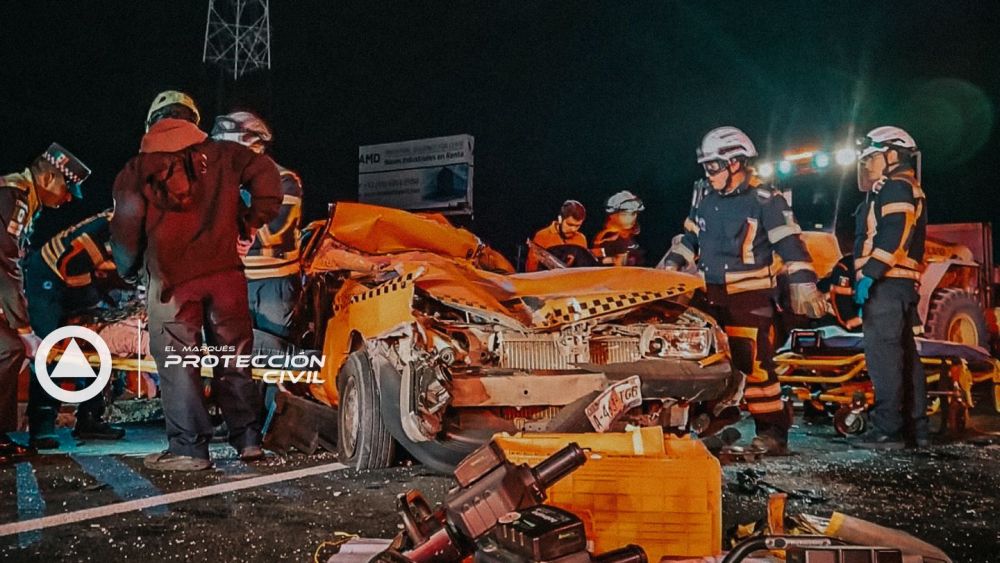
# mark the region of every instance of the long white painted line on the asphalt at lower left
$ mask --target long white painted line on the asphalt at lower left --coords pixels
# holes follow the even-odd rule
[[[208,487],[178,491],[176,493],[168,493],[155,497],[108,504],[105,506],[98,506],[96,508],[86,508],[74,512],[67,512],[65,514],[55,514],[53,516],[45,516],[44,518],[25,520],[23,522],[11,522],[10,524],[0,525],[0,537],[30,532],[32,530],[44,530],[45,528],[62,526],[65,524],[74,524],[77,522],[84,522],[86,520],[93,520],[95,518],[104,518],[105,516],[111,516],[113,514],[143,510],[153,506],[162,506],[164,504],[184,502],[196,498],[219,495],[243,489],[252,489],[262,485],[281,483],[292,479],[301,479],[302,477],[312,477],[314,475],[322,475],[323,473],[330,473],[332,471],[340,471],[341,469],[347,469],[347,466],[342,463],[327,463],[325,465],[317,465],[315,467],[307,467],[305,469],[296,469],[295,471],[286,471],[284,473],[275,473],[272,475],[261,475],[260,477],[253,477],[240,481],[220,483],[218,485],[210,485]]]

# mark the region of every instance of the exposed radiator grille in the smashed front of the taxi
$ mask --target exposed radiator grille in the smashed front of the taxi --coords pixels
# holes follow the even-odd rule
[[[639,359],[639,339],[627,337],[592,340],[589,355],[567,355],[554,340],[544,337],[507,337],[500,350],[500,367],[523,370],[568,370],[578,363],[612,364]]]

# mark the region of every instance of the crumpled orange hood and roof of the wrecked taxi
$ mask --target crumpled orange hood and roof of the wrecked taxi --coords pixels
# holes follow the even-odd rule
[[[510,274],[502,256],[441,216],[340,203],[309,270],[360,274],[395,271],[390,284],[412,283],[448,306],[520,330],[546,330],[687,295],[698,276],[649,268],[572,268]],[[484,258],[486,263],[484,264]],[[506,267],[497,267],[497,266]],[[504,273],[497,273],[504,272]],[[336,298],[346,306],[370,295],[348,284]]]

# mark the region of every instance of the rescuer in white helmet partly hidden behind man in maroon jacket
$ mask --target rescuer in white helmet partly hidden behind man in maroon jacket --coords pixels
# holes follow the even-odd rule
[[[233,141],[263,154],[273,138],[260,117],[237,111],[215,118],[212,138]],[[281,176],[281,209],[278,216],[240,242],[244,272],[250,291],[254,328],[282,339],[289,337],[292,310],[302,291],[299,271],[302,180],[278,166]]]

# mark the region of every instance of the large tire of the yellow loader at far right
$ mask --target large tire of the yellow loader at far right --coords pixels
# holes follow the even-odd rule
[[[986,315],[979,301],[961,289],[939,289],[931,296],[925,323],[928,338],[988,346]]]

